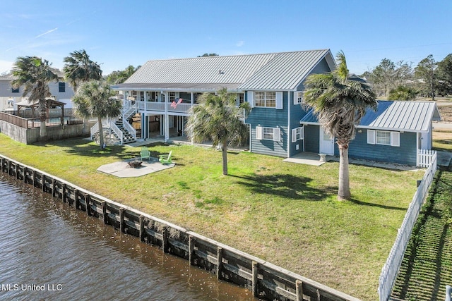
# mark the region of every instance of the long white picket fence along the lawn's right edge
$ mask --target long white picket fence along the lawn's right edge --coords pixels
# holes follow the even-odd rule
[[[427,192],[432,184],[434,174],[436,172],[436,152],[432,154],[431,163],[427,171],[424,173],[424,178],[420,185],[417,187],[414,197],[408,207],[408,211],[403,219],[402,226],[398,229],[398,235],[396,242],[394,242],[393,248],[389,253],[388,259],[386,259],[386,264],[381,269],[381,274],[379,278],[379,296],[380,301],[388,301],[391,295],[394,282],[396,281],[398,269],[400,264],[402,264],[403,254],[408,245],[408,240],[410,240],[410,235],[417,216],[420,213],[422,204],[427,197]]]

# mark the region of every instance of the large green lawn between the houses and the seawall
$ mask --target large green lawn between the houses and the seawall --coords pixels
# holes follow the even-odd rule
[[[338,202],[338,163],[291,164],[282,158],[191,145],[173,151],[174,168],[140,178],[96,169],[138,156],[140,148],[99,147],[73,139],[23,145],[0,133],[0,154],[85,189],[331,286],[377,300],[381,267],[424,171],[350,166],[351,201]]]

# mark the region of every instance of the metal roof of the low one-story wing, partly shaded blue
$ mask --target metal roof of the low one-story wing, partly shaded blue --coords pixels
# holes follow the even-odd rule
[[[373,130],[399,130],[428,132],[432,121],[441,120],[434,102],[405,102],[379,100],[376,111],[367,109],[357,128]],[[319,124],[314,110],[300,121],[302,124]]]

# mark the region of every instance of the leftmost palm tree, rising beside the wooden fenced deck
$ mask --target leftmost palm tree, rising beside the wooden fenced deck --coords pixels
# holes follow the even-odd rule
[[[46,98],[52,96],[49,82],[58,80],[58,75],[52,71],[50,65],[49,61],[43,61],[37,56],[19,56],[12,70],[15,79],[11,85],[16,89],[23,85],[23,97],[28,96],[28,102],[39,102],[40,139],[47,137]]]

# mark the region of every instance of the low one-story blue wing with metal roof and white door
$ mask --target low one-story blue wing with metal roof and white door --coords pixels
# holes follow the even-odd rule
[[[432,121],[441,119],[434,102],[378,101],[368,109],[348,149],[351,159],[419,166],[418,150],[432,149]],[[314,111],[299,121],[305,152],[339,155],[334,138],[321,128]]]

